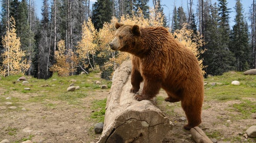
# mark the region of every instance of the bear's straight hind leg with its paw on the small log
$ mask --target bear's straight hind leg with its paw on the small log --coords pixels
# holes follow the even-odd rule
[[[184,99],[181,106],[185,111],[188,124],[184,126],[185,130],[190,130],[201,124],[202,101],[193,99]]]

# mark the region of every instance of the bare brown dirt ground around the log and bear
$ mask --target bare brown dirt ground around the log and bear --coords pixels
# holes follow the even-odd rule
[[[20,95],[13,91],[5,94],[4,98],[18,98],[19,101],[16,105],[18,109],[15,110],[9,109],[8,105],[0,104],[0,141],[9,139],[11,142],[22,142],[23,139],[31,139],[33,142],[96,142],[99,134],[94,134],[93,127],[96,122],[90,120],[90,114],[93,112],[90,107],[93,100],[105,99],[109,89],[97,92],[81,99],[83,108],[69,105],[63,101],[45,100],[39,104],[24,103],[23,101],[26,99],[37,96],[31,93]],[[1,87],[0,93],[2,96],[3,89]],[[158,96],[165,98],[166,94],[161,91]],[[254,98],[248,100],[256,102]],[[252,114],[252,117],[247,120],[236,121],[232,120],[229,111],[223,110],[231,104],[239,102],[240,100],[205,102],[202,113],[203,122],[200,128],[206,134],[216,132],[221,134],[217,137],[218,141],[223,141],[226,138],[238,138],[239,142],[248,142],[245,141],[246,138],[243,135],[239,135],[239,132],[244,134],[248,125],[255,124],[256,115]],[[170,103],[164,101],[158,101],[158,103],[163,112],[168,112],[165,107]],[[190,132],[182,129],[186,121],[180,120],[180,117],[185,117],[185,114],[180,108],[180,103],[175,104],[177,108],[174,108],[172,116],[169,116],[174,127],[163,142],[195,142]],[[253,142],[253,140],[249,140],[249,142]]]

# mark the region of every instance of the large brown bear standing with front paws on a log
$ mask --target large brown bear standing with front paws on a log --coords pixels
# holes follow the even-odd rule
[[[201,123],[204,100],[203,75],[193,52],[178,42],[164,27],[141,28],[115,23],[112,50],[131,53],[132,89],[136,93],[144,81],[138,101],[149,100],[163,88],[167,102],[179,102],[185,111],[190,130]]]

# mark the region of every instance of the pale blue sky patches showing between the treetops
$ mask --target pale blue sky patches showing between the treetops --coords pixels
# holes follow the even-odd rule
[[[94,4],[97,0],[90,0],[91,5]],[[179,6],[182,6],[185,10],[185,12],[187,13],[187,3],[188,0],[161,0],[161,5],[163,5],[163,9],[164,9],[164,14],[165,16],[168,18],[168,15],[170,15],[170,17],[172,17],[173,14],[173,9],[174,9],[174,4],[176,5],[176,7],[178,8]],[[249,12],[250,12],[250,7],[252,4],[253,0],[241,0],[241,3],[243,5],[244,8],[244,16],[248,19],[249,16]],[[36,7],[36,13],[37,16],[40,18],[41,17],[41,7],[42,7],[42,1],[40,0],[34,0],[35,2],[35,7]],[[211,0],[211,3],[214,4],[215,2],[217,2],[217,0]],[[227,0],[227,7],[231,9],[231,12],[229,13],[229,24],[230,26],[234,25],[234,17],[236,16],[235,10],[234,10],[234,6],[236,5],[236,0]],[[198,0],[194,0],[193,1],[193,9],[194,12],[196,13],[196,8],[197,8],[197,4],[198,4]],[[153,7],[153,3],[152,0],[150,0],[150,7]],[[92,6],[90,6],[92,8]],[[248,22],[248,24],[250,25],[250,22]]]

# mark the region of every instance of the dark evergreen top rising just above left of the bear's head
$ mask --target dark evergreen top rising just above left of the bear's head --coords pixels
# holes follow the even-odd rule
[[[98,0],[93,4],[92,22],[95,29],[103,27],[104,22],[110,22],[112,12],[112,3],[110,0]]]

